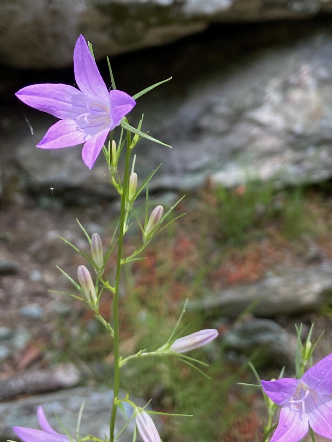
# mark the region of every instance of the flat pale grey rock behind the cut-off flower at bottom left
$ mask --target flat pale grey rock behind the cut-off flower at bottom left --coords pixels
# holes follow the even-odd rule
[[[125,395],[123,394],[122,397]],[[145,401],[131,398],[139,406],[146,405]],[[76,438],[76,425],[80,407],[84,403],[84,411],[80,425],[80,434],[92,434],[104,440],[105,434],[109,435],[110,409],[113,392],[103,388],[80,387],[64,390],[57,393],[32,396],[14,402],[0,404],[0,441],[15,440],[17,436],[12,431],[13,426],[39,428],[37,421],[37,408],[42,405],[50,424],[55,430],[63,434],[59,421]],[[123,404],[127,416],[132,416],[132,407]],[[148,408],[149,409],[149,408]],[[160,429],[160,419],[153,416],[153,420]],[[126,424],[121,412],[117,414],[116,432]],[[119,442],[131,442],[134,431],[134,421],[117,438]]]

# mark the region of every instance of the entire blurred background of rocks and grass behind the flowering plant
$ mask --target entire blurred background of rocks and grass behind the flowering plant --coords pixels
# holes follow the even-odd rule
[[[332,1],[3,0],[0,3],[0,440],[12,425],[37,427],[42,404],[82,432],[107,431],[112,345],[72,291],[84,233],[105,249],[119,204],[100,158],[89,171],[80,147],[36,149],[56,119],[14,93],[37,83],[75,85],[73,48],[93,44],[108,87],[139,98],[129,114],[173,146],[142,140],[136,172],[151,208],[186,212],[125,268],[121,351],[153,350],[169,336],[185,299],[185,333],[218,328],[191,356],[206,379],[174,358],[128,363],[122,387],[154,410],[193,414],[159,419],[163,440],[246,442],[265,417],[248,367],[264,379],[294,376],[296,333],[325,336],[332,351]],[[142,201],[137,203],[144,216]],[[136,225],[126,252],[140,244]],[[108,271],[112,277],[112,256]],[[53,291],[49,291],[53,290]],[[109,317],[105,295],[101,309]],[[53,420],[52,420],[53,419]],[[120,424],[119,424],[120,425]],[[59,427],[58,427],[59,428]],[[119,428],[120,429],[120,428]],[[130,428],[119,440],[131,440]]]

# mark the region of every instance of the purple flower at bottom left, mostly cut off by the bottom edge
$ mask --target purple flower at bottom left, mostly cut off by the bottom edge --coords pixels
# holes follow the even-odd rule
[[[13,427],[13,431],[23,442],[69,442],[70,439],[68,436],[64,436],[53,430],[40,406],[38,407],[37,416],[39,425],[42,428],[41,430],[21,426]]]

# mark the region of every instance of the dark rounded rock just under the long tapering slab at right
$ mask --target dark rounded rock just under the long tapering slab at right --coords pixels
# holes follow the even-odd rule
[[[227,332],[226,349],[254,357],[257,363],[294,369],[296,337],[271,319],[251,318]]]

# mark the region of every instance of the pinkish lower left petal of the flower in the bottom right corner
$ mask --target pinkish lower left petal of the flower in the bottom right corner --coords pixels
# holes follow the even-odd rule
[[[298,442],[309,430],[307,416],[294,412],[290,407],[280,410],[279,424],[270,442]]]

